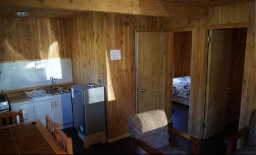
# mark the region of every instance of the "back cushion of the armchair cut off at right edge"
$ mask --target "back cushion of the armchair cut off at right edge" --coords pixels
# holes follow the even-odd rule
[[[256,110],[254,109],[251,114],[251,118],[250,118],[250,122],[249,122],[249,126],[248,126],[249,134],[247,137],[247,144],[246,144],[248,146],[253,146],[253,147],[256,147],[256,143],[255,143],[255,138],[256,138],[256,135],[255,135],[255,125],[256,125],[255,112],[256,112]]]

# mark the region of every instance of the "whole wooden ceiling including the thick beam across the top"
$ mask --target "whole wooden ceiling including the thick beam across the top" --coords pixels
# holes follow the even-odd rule
[[[201,7],[251,1],[253,0],[8,0],[0,1],[0,17],[14,17],[15,11],[27,11],[30,12],[29,17],[69,18],[87,11],[96,11],[200,19]]]

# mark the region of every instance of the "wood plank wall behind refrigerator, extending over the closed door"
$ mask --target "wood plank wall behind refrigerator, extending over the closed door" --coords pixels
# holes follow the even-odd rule
[[[135,114],[135,28],[172,28],[173,22],[182,27],[194,24],[186,19],[113,13],[87,13],[69,20],[74,83],[105,80],[109,139],[127,134],[127,117]],[[121,49],[121,60],[110,60],[110,49]]]

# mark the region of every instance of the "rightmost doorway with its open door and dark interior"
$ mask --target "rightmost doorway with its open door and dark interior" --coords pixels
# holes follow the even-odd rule
[[[209,31],[204,139],[230,124],[238,130],[246,35],[246,28]]]

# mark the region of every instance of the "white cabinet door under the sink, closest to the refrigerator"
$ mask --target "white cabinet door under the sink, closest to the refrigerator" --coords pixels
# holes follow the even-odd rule
[[[55,121],[59,125],[73,122],[71,97],[61,97],[54,99]]]

